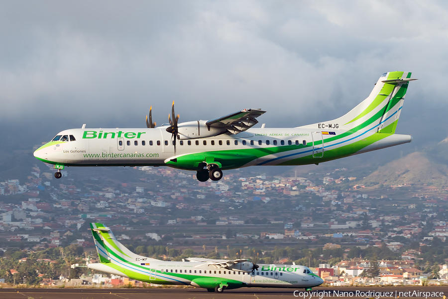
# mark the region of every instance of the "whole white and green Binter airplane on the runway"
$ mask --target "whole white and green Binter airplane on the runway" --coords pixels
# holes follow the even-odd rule
[[[257,265],[246,259],[212,260],[189,258],[168,262],[137,255],[118,242],[109,227],[91,223],[100,263],[87,267],[142,282],[160,285],[184,285],[222,293],[242,287],[305,288],[324,281],[299,265]]]

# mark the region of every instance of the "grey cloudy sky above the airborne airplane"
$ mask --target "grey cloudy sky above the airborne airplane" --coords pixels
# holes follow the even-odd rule
[[[413,78],[397,132],[448,135],[446,1],[1,1],[0,125],[45,141],[268,111],[266,126],[336,118],[382,73]],[[420,139],[419,139],[420,138]],[[420,141],[419,141],[420,140]]]

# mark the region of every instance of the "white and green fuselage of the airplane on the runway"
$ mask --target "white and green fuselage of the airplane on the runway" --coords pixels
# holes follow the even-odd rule
[[[113,262],[113,261],[112,261]],[[226,284],[227,289],[241,287],[312,288],[323,280],[313,272],[299,265],[258,264],[254,272],[238,269],[217,269],[203,262],[163,262],[151,259],[136,263],[88,264],[91,269],[129,277],[143,282],[161,285],[191,285],[200,288],[215,288],[217,281]],[[243,266],[244,267],[244,266]]]

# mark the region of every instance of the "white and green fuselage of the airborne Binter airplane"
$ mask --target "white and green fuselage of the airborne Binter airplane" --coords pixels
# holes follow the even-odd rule
[[[306,165],[410,142],[409,135],[329,128],[251,128],[238,134],[176,140],[157,128],[69,129],[34,152],[39,160],[65,166],[170,166],[221,169],[255,165]],[[176,148],[176,149],[175,149]],[[176,151],[176,152],[175,152]]]

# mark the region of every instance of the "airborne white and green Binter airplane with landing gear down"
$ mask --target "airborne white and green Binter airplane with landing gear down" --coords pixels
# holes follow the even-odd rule
[[[34,156],[64,166],[169,166],[197,171],[205,182],[218,181],[222,170],[255,165],[319,164],[412,141],[395,134],[411,73],[383,74],[367,99],[345,115],[294,128],[253,128],[265,111],[243,109],[213,119],[155,127],[152,111],[147,128],[94,128],[59,132]]]

